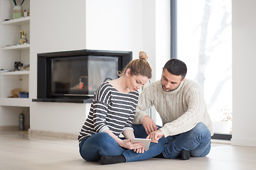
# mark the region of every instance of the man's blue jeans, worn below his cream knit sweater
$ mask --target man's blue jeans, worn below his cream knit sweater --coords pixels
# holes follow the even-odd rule
[[[134,125],[135,137],[146,137],[146,131],[142,125]],[[174,159],[181,150],[188,150],[191,157],[206,157],[210,152],[210,130],[203,123],[198,123],[195,128],[188,132],[166,137],[166,149],[162,154],[165,158]],[[162,137],[163,138],[163,137]]]

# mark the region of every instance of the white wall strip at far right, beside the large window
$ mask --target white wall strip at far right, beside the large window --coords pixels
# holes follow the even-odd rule
[[[232,145],[256,147],[256,16],[254,0],[233,0]]]

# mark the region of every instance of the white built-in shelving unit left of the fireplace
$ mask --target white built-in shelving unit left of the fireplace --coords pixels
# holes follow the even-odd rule
[[[17,4],[21,1],[16,0]],[[30,8],[30,1],[23,3],[23,10]],[[14,70],[14,63],[30,64],[29,43],[20,45],[21,30],[30,40],[30,16],[13,19],[14,1],[0,0],[0,69]],[[14,117],[19,111],[25,110],[29,125],[29,110],[31,98],[11,98],[13,89],[21,89],[29,95],[29,71],[0,72],[0,116]],[[7,106],[7,107],[6,107]],[[1,117],[0,117],[1,119]],[[15,125],[17,120],[9,120],[10,125]],[[1,123],[0,123],[1,126]]]

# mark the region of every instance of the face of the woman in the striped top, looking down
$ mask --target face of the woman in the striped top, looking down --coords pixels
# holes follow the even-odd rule
[[[127,87],[130,91],[141,89],[147,81],[149,81],[149,78],[146,76],[140,74],[131,76],[131,74],[127,74]]]

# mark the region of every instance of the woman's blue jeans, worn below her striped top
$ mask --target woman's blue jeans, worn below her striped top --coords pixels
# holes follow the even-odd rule
[[[120,154],[124,155],[126,162],[135,162],[161,154],[165,149],[166,142],[166,139],[162,137],[157,144],[151,143],[149,150],[139,154],[131,149],[120,147],[106,132],[99,132],[82,140],[79,148],[81,157],[90,162],[98,161],[102,156],[117,156]]]

